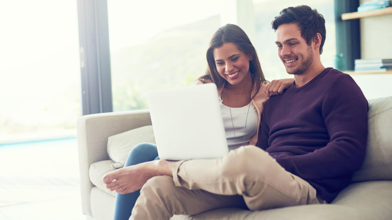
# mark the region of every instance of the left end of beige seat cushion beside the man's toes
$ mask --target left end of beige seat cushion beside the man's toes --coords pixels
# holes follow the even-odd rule
[[[115,191],[110,191],[106,188],[105,184],[103,183],[103,177],[110,172],[115,171],[116,169],[112,167],[113,160],[102,160],[91,164],[89,169],[89,176],[91,182],[98,188],[102,189],[103,191],[111,194],[116,195]]]

